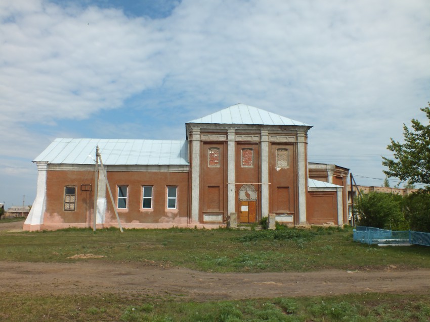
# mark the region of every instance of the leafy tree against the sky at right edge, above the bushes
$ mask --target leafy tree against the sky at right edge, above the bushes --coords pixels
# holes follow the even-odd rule
[[[421,111],[430,121],[430,103]],[[383,173],[411,184],[430,184],[430,124],[415,119],[411,122],[413,131],[403,124],[404,143],[390,139],[387,149],[394,152],[394,159],[382,157],[382,165],[388,167]]]

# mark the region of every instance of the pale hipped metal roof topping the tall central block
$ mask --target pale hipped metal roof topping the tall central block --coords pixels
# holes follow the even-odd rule
[[[242,103],[187,123],[311,126]]]

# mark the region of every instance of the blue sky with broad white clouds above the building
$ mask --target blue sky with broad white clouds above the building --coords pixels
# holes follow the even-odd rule
[[[428,0],[3,0],[0,24],[7,208],[56,137],[185,139],[239,102],[312,124],[311,161],[381,185],[363,177],[430,100]]]

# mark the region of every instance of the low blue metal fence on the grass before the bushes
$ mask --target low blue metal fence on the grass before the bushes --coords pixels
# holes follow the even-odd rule
[[[367,244],[417,244],[430,246],[430,233],[414,231],[392,231],[374,227],[357,226],[354,241]]]

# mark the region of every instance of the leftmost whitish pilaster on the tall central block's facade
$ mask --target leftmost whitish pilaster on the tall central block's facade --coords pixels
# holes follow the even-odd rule
[[[192,169],[191,169],[191,223],[199,222],[200,204],[200,129],[191,130]]]

